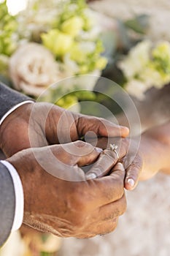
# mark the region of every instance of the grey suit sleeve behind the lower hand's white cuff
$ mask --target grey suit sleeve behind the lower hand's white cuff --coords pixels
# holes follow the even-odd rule
[[[0,246],[9,237],[15,217],[15,189],[12,177],[0,162]]]

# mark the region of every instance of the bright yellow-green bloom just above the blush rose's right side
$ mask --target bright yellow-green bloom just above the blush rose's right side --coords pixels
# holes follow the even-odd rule
[[[51,29],[48,33],[42,34],[42,43],[51,50],[55,56],[63,56],[72,48],[73,39],[58,29]]]

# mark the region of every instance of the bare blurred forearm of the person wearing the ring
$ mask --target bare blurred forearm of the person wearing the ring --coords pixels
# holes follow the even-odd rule
[[[141,180],[151,178],[158,171],[170,174],[170,121],[144,132],[139,151],[144,160]]]

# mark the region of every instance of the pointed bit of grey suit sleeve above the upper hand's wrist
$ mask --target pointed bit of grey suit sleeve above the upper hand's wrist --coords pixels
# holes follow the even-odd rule
[[[20,94],[0,82],[0,120],[12,107],[29,99],[26,95]]]

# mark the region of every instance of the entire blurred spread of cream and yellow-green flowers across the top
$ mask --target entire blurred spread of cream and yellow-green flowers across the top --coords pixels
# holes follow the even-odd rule
[[[69,108],[81,100],[101,100],[78,91],[93,90],[101,72],[139,99],[152,86],[169,83],[169,42],[145,39],[147,15],[112,20],[90,10],[85,0],[28,3],[16,16],[6,1],[0,4],[0,75],[15,89],[37,98],[53,84],[43,100]],[[87,74],[93,79],[82,78]]]

